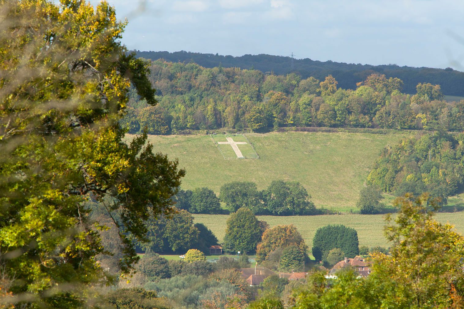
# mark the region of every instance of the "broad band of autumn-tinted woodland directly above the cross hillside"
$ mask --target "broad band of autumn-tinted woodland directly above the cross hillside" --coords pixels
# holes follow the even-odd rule
[[[464,130],[464,101],[444,101],[441,86],[431,83],[419,83],[414,95],[406,95],[400,78],[380,73],[344,89],[332,75],[305,79],[156,60],[149,79],[159,103],[148,106],[135,91],[129,93],[122,125],[130,133],[145,127],[150,134],[287,126]]]

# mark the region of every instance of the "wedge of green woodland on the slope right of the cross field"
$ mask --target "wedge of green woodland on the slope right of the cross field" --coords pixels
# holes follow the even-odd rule
[[[428,192],[447,204],[464,179],[464,134],[423,134],[385,147],[367,176],[357,206],[362,214],[378,213],[381,192],[402,196]]]

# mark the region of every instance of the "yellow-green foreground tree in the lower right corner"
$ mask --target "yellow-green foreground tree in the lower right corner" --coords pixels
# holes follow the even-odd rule
[[[440,206],[427,194],[394,204],[399,213],[387,216],[385,227],[391,255],[374,254],[373,280],[386,292],[382,303],[397,295],[404,308],[462,308],[464,237],[433,219]]]

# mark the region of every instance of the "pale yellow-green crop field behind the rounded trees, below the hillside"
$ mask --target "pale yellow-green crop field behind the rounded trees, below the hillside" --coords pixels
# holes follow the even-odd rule
[[[224,239],[226,220],[225,214],[194,214],[195,223],[203,223],[213,231],[219,242]],[[464,212],[438,213],[436,220],[454,225],[459,233],[464,233]],[[314,215],[314,216],[258,216],[258,220],[266,221],[271,227],[283,224],[293,224],[303,236],[306,244],[311,247],[316,230],[328,224],[343,224],[352,227],[358,232],[360,246],[388,247],[383,236],[385,225],[384,215],[381,214],[341,214],[341,215]]]

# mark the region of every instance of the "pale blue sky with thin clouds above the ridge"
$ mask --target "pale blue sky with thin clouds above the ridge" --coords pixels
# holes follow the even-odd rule
[[[131,50],[464,70],[463,0],[108,2],[129,21],[122,42]]]

